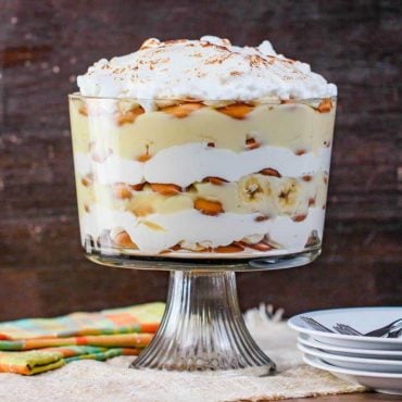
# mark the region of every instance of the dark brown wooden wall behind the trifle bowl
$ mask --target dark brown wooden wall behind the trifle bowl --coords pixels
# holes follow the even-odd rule
[[[401,1],[0,2],[0,319],[164,299],[165,273],[81,255],[66,95],[148,37],[269,38],[339,87],[322,257],[238,276],[243,309],[402,304]]]

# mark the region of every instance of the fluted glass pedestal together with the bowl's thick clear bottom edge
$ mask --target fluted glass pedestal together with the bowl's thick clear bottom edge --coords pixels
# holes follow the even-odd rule
[[[213,372],[268,376],[275,363],[246,328],[236,291],[236,271],[271,271],[314,261],[321,249],[250,261],[190,262],[135,259],[87,252],[98,264],[171,271],[167,304],[151,343],[133,362],[137,369]]]

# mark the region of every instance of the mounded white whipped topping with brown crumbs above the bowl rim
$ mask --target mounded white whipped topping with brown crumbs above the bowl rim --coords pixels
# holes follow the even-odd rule
[[[228,39],[148,39],[130,54],[102,59],[77,78],[83,96],[204,101],[309,99],[337,95],[337,87],[309,64],[277,54],[269,41],[233,46]],[[142,104],[143,102],[141,102]]]

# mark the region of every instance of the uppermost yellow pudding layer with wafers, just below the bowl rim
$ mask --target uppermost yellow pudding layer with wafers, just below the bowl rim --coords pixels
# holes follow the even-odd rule
[[[91,148],[100,160],[112,154],[143,161],[186,143],[234,152],[274,146],[297,154],[316,154],[330,146],[335,104],[329,99],[310,104],[222,104],[187,102],[145,112],[139,103],[128,101],[87,99],[84,103],[73,98],[74,150],[87,153]]]

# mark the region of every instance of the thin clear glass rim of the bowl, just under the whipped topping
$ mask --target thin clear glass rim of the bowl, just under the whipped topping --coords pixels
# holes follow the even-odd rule
[[[262,99],[191,99],[191,98],[131,98],[131,97],[92,97],[80,95],[80,92],[68,93],[68,99],[80,99],[80,100],[114,100],[114,101],[131,101],[131,102],[177,102],[177,103],[197,103],[197,102],[211,102],[213,103],[250,103],[254,105],[259,104],[286,104],[286,103],[306,103],[312,104],[321,102],[326,99],[330,99],[336,102],[338,97],[322,97],[322,98],[290,98],[290,99],[279,99],[279,98],[262,98]],[[209,104],[206,104],[209,105]]]

